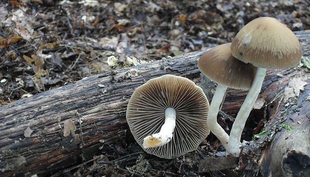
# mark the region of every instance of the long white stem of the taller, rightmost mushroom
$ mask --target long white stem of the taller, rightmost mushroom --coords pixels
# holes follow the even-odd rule
[[[265,68],[257,68],[252,86],[249,89],[246,95],[246,98],[232,125],[230,135],[229,135],[227,151],[228,151],[228,154],[231,154],[234,157],[239,157],[239,154],[240,154],[239,145],[240,145],[241,134],[242,134],[246,119],[249,113],[251,112],[253,105],[257,99],[257,96],[260,92],[260,88],[261,88],[265,75],[266,75]]]

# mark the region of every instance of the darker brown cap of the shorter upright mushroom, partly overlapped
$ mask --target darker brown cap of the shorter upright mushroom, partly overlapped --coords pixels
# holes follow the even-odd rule
[[[231,55],[230,43],[205,52],[198,61],[198,68],[214,82],[242,90],[249,90],[256,72],[252,64],[243,63]]]

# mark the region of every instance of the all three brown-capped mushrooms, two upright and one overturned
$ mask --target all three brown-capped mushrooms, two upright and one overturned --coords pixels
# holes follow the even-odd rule
[[[271,17],[256,18],[231,43],[200,57],[198,68],[218,84],[210,107],[202,89],[192,81],[164,75],[133,92],[126,111],[129,129],[144,151],[160,158],[172,159],[195,150],[210,131],[229,155],[239,157],[241,133],[266,68],[293,67],[300,59],[299,41],[289,28]],[[229,136],[216,121],[228,87],[249,90]]]

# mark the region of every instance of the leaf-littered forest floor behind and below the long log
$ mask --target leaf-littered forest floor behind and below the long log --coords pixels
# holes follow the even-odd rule
[[[307,30],[310,1],[1,1],[0,107],[110,71],[107,58],[111,55],[123,53],[151,61],[230,42],[244,24],[260,16],[275,17],[292,31]],[[246,136],[252,137],[252,133]],[[139,147],[133,143],[131,148]],[[129,160],[102,165],[91,175],[198,176],[197,159],[202,154],[223,156],[221,148],[208,138],[196,152],[173,160],[135,153]],[[125,152],[119,154],[128,155],[130,150]],[[237,175],[234,171],[204,175],[224,174]]]

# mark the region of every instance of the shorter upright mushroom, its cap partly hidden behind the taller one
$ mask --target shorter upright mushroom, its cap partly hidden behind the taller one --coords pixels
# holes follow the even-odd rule
[[[206,77],[218,84],[210,104],[207,124],[210,131],[228,150],[229,137],[216,121],[219,106],[228,87],[242,90],[250,88],[256,67],[235,59],[230,52],[230,43],[226,43],[204,53],[199,58],[198,68]]]

